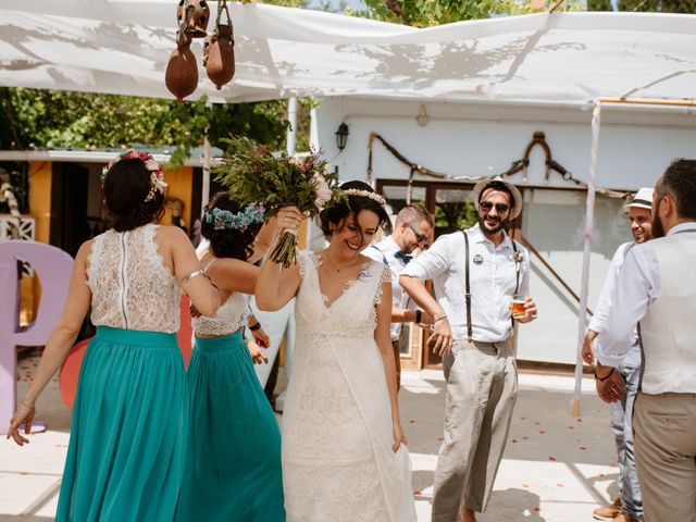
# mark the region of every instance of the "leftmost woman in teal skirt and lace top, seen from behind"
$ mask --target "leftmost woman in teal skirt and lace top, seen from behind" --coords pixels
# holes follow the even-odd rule
[[[170,521],[185,464],[187,384],[176,344],[182,287],[206,315],[221,299],[194,247],[176,227],[154,224],[163,171],[127,151],[103,171],[113,228],[85,243],[65,308],[9,434],[30,433],[35,401],[73,346],[87,311],[97,336],[87,348],[73,407],[58,521]]]

